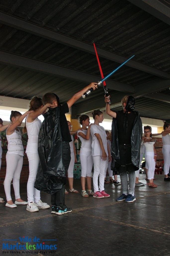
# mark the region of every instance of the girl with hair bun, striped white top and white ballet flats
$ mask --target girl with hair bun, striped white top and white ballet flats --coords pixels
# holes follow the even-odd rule
[[[6,130],[6,138],[8,141],[8,151],[6,154],[6,176],[4,181],[4,189],[6,194],[7,203],[5,206],[9,208],[15,208],[17,205],[27,205],[21,199],[19,193],[19,180],[23,164],[24,148],[21,141],[21,132],[17,128],[21,126],[21,123],[25,116],[32,111],[27,111],[21,115],[18,111],[11,111],[10,121],[11,125]],[[11,181],[13,179],[13,187],[15,192],[15,203],[11,198]]]

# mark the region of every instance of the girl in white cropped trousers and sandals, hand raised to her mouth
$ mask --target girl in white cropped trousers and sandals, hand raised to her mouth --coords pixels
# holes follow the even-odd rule
[[[91,190],[91,170],[93,167],[93,157],[91,155],[91,134],[90,134],[90,119],[88,115],[81,115],[79,122],[82,125],[82,129],[77,131],[77,135],[81,140],[80,149],[80,162],[82,167],[81,172],[81,185],[82,196],[93,196],[94,192]],[[88,127],[88,128],[87,128]],[[87,191],[85,189],[85,183],[87,182]]]

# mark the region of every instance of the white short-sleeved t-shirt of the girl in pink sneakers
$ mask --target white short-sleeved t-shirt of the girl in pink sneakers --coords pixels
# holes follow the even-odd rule
[[[102,151],[101,151],[101,148],[100,148],[100,144],[99,144],[99,141],[97,139],[97,137],[95,136],[95,133],[98,133],[101,137],[101,140],[103,142],[103,147],[104,147],[104,150],[106,152],[106,155],[108,156],[108,151],[107,151],[107,135],[106,135],[106,132],[104,130],[104,128],[100,125],[91,125],[90,127],[90,133],[91,133],[91,137],[92,137],[92,144],[91,144],[91,147],[92,147],[92,156],[101,156],[102,155]]]

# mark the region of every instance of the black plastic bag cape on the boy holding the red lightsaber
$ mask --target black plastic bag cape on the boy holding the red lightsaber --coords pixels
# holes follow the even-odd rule
[[[142,121],[139,117],[139,112],[133,111],[136,113],[136,117],[134,120],[134,125],[132,129],[131,135],[131,154],[132,154],[132,164],[135,166],[135,169],[139,169],[139,161],[140,161],[140,146],[141,146],[141,138],[142,138]],[[116,119],[113,118],[112,121],[112,140],[111,140],[111,155],[112,155],[112,165],[114,166],[114,162],[118,165],[120,164],[120,156],[119,156],[119,140],[116,126]]]

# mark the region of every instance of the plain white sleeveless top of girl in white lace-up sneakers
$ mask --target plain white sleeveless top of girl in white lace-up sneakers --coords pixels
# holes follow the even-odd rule
[[[39,134],[42,122],[38,118],[35,118],[33,122],[28,123],[27,122],[28,115],[25,119],[25,125],[27,128],[27,134],[28,134],[28,142],[27,142],[27,148],[25,152],[38,153],[38,134]]]

